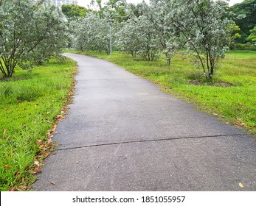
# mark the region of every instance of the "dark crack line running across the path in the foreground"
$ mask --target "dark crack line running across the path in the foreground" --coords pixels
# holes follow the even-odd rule
[[[127,143],[145,143],[145,142],[153,142],[153,141],[175,141],[175,140],[196,139],[196,138],[221,138],[221,137],[229,137],[229,136],[234,137],[234,136],[242,136],[242,135],[246,135],[246,134],[207,135],[207,136],[198,136],[198,137],[162,138],[162,139],[149,139],[149,140],[140,140],[140,141],[122,141],[122,142],[114,142],[114,143],[99,143],[99,144],[92,144],[92,145],[86,145],[86,146],[73,146],[73,147],[67,147],[67,148],[60,148],[57,150],[62,151],[62,150],[90,148],[90,147],[97,147],[97,146],[120,145],[120,144],[127,144]]]

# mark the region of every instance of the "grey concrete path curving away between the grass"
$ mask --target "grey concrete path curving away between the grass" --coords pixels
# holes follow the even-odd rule
[[[79,65],[75,100],[33,190],[256,191],[245,132],[117,65],[66,56]]]

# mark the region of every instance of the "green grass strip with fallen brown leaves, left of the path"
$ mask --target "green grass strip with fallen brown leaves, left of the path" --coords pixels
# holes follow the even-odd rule
[[[0,191],[27,191],[53,148],[55,121],[71,94],[76,63],[50,60],[0,80]]]

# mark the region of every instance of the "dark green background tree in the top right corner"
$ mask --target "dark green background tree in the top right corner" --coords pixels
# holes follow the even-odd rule
[[[244,15],[244,18],[234,18],[241,31],[241,38],[237,41],[246,43],[246,38],[250,35],[250,30],[256,26],[256,0],[245,0],[241,3],[234,4],[230,9],[235,16]]]

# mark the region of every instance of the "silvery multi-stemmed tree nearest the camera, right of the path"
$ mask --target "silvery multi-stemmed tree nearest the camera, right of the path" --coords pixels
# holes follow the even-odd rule
[[[224,57],[227,28],[232,24],[225,18],[228,5],[224,1],[169,1],[169,23],[176,27],[181,42],[189,54],[196,57],[196,65],[212,79],[218,61]]]

